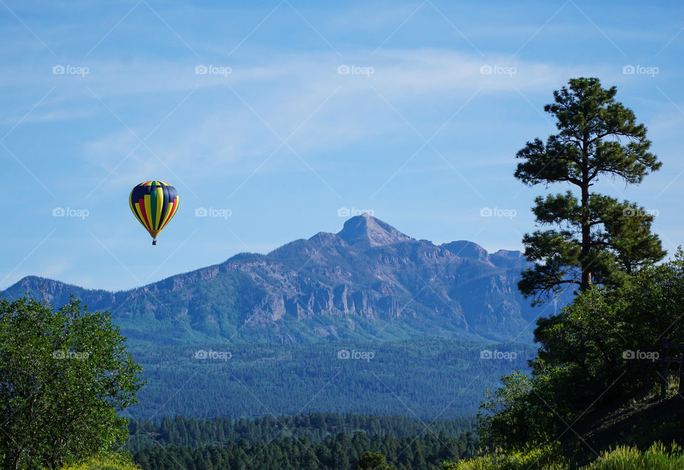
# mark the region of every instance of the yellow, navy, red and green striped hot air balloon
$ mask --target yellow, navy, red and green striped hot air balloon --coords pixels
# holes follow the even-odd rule
[[[156,245],[157,234],[178,210],[178,193],[163,181],[146,181],[133,188],[128,203],[135,218],[150,232],[152,245]]]

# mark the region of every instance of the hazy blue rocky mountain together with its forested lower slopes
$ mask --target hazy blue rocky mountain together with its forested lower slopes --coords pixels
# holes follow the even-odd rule
[[[299,412],[469,416],[534,357],[519,251],[436,246],[368,214],[271,253],[131,291],[30,276],[0,293],[110,310],[147,386],[130,417]],[[503,344],[502,344],[503,343]],[[415,416],[414,416],[415,413]]]

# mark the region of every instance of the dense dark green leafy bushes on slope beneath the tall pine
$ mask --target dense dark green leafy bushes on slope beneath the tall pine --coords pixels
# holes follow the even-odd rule
[[[633,357],[658,352],[663,332],[684,338],[683,304],[680,250],[668,263],[629,276],[616,290],[594,286],[558,315],[539,318],[531,377],[519,372],[502,377],[503,387],[487,390],[480,405],[484,445],[516,451],[542,444],[563,433],[565,423],[651,397],[660,371]]]

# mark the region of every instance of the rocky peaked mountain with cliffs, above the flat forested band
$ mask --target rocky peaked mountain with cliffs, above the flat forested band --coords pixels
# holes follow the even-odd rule
[[[130,291],[28,276],[0,296],[30,293],[62,305],[73,293],[88,308],[110,310],[132,341],[519,341],[532,338],[537,315],[554,310],[532,308],[519,294],[527,266],[519,251],[490,254],[471,241],[437,246],[363,214],[337,234],[238,254]]]

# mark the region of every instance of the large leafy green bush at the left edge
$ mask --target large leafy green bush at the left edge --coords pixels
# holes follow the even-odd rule
[[[0,468],[56,469],[115,448],[143,382],[109,313],[0,298]]]

